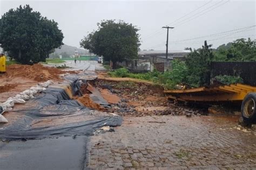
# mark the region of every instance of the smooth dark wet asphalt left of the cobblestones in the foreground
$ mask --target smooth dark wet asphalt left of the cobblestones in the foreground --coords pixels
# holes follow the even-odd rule
[[[0,169],[83,169],[87,137],[0,141]]]

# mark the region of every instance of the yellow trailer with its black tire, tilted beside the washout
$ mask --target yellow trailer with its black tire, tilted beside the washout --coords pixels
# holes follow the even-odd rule
[[[240,102],[241,116],[247,124],[256,124],[256,87],[245,84],[165,90],[169,98],[186,102]]]

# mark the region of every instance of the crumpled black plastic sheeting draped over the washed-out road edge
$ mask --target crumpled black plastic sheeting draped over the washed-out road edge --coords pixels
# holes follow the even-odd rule
[[[65,87],[70,86],[73,95],[82,95],[79,94],[81,83],[79,77],[69,75],[65,77],[65,80]],[[28,105],[33,104],[35,107],[15,110],[23,117],[2,129],[0,126],[0,138],[36,139],[73,134],[88,136],[102,126],[119,126],[122,124],[123,120],[120,116],[93,112],[76,100],[71,100],[65,87],[50,86],[26,103]]]

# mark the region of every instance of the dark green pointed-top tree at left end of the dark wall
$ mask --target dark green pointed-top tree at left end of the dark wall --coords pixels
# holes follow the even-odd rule
[[[211,61],[213,60],[212,45],[204,46],[194,51],[186,57],[188,69],[187,83],[192,86],[208,86],[211,80]]]

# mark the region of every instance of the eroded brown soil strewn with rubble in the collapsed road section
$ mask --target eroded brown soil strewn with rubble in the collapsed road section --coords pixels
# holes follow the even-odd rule
[[[95,82],[95,87],[100,91],[110,91],[110,93],[121,98],[121,102],[112,104],[113,112],[121,116],[187,114],[188,116],[200,116],[207,114],[207,112],[198,108],[174,105],[164,95],[163,88],[154,84],[98,80]],[[113,97],[110,96],[109,98]]]

